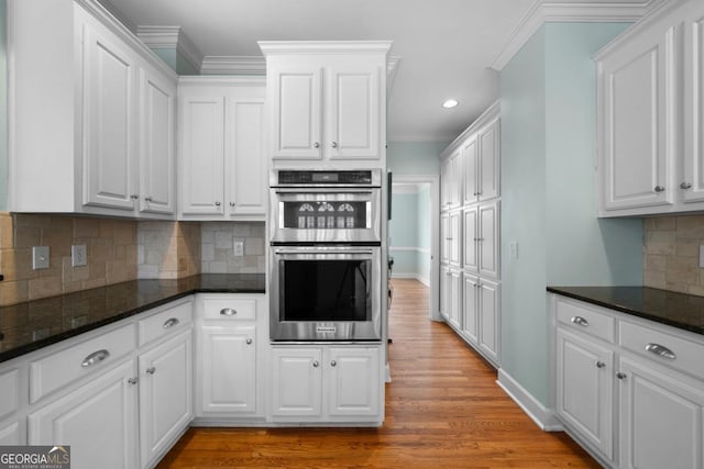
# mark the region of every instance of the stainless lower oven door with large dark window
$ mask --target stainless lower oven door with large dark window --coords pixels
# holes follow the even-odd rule
[[[273,246],[273,340],[381,340],[381,247]]]

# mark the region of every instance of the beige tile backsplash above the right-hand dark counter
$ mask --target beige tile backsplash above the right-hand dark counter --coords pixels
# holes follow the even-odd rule
[[[644,220],[644,286],[704,295],[704,215]]]

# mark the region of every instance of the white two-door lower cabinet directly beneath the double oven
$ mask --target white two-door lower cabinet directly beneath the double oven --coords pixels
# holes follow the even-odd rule
[[[272,420],[381,424],[380,348],[273,347]]]

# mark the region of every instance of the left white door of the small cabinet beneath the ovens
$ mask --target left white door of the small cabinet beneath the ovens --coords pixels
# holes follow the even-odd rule
[[[320,417],[321,349],[274,348],[272,358],[272,415]]]

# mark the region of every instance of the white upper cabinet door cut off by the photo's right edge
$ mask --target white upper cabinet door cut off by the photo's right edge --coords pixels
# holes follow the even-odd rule
[[[684,21],[685,202],[704,200],[704,3],[692,1]]]

